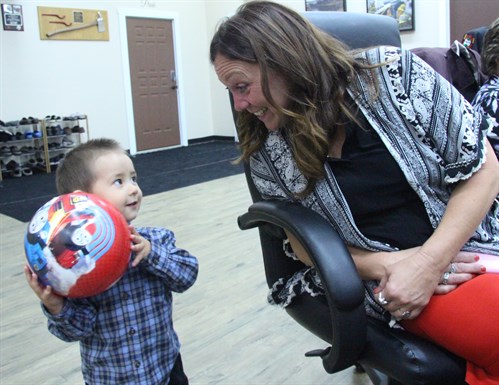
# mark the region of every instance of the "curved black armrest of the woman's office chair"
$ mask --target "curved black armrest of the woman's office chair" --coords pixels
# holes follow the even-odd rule
[[[352,257],[334,228],[300,204],[261,201],[238,218],[242,230],[273,224],[293,234],[312,259],[324,286],[332,321],[331,348],[322,354],[328,373],[353,365],[366,341],[364,287]]]

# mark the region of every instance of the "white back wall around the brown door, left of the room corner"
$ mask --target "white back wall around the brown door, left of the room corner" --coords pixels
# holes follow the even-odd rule
[[[204,1],[149,3],[154,7],[142,7],[143,0],[17,1],[23,8],[24,32],[0,32],[0,119],[85,113],[91,137],[113,137],[130,148],[119,11],[136,9],[178,15],[183,129],[186,139],[214,135]],[[110,40],[40,40],[37,6],[106,10]]]

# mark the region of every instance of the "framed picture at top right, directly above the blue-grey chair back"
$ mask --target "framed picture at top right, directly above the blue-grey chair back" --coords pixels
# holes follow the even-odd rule
[[[367,12],[393,17],[401,31],[414,30],[415,0],[366,0]]]

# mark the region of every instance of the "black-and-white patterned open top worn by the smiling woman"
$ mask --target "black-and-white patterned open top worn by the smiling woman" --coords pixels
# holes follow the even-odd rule
[[[433,228],[440,223],[456,182],[469,178],[485,161],[486,134],[492,122],[430,66],[409,51],[378,47],[360,53],[369,63],[386,63],[372,71],[379,97],[370,98],[369,84],[353,79],[349,94],[385,143],[409,185],[419,196]],[[306,185],[292,151],[280,132],[270,132],[263,148],[250,159],[253,181],[264,199],[299,201],[326,218],[348,244],[372,251],[395,247],[368,239],[357,228],[347,201],[329,167],[314,191],[298,200]],[[499,198],[463,248],[499,256]],[[304,269],[276,282],[270,302],[287,305],[297,293],[316,294],[316,277]],[[365,282],[366,310],[380,317],[374,301],[377,282]],[[381,317],[383,318],[383,317]]]

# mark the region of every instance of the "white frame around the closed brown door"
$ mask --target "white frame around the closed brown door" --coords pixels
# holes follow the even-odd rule
[[[127,17],[139,17],[144,19],[165,19],[172,21],[173,29],[173,51],[175,53],[175,72],[177,75],[177,100],[178,100],[178,120],[179,120],[179,131],[180,131],[180,146],[187,146],[187,135],[185,132],[184,122],[185,111],[184,111],[184,82],[182,74],[182,54],[180,52],[180,25],[179,25],[179,15],[175,12],[158,12],[156,10],[149,11],[143,9],[118,9],[119,16],[119,26],[120,26],[120,40],[121,40],[121,54],[122,54],[122,65],[123,65],[123,80],[125,86],[125,105],[126,105],[126,119],[127,119],[127,129],[128,129],[128,140],[130,143],[130,154],[137,154],[137,141],[135,139],[135,119],[133,113],[133,99],[132,99],[132,79],[130,77],[130,57],[128,52],[128,34],[126,28],[126,18]],[[141,151],[143,152],[152,152]]]

